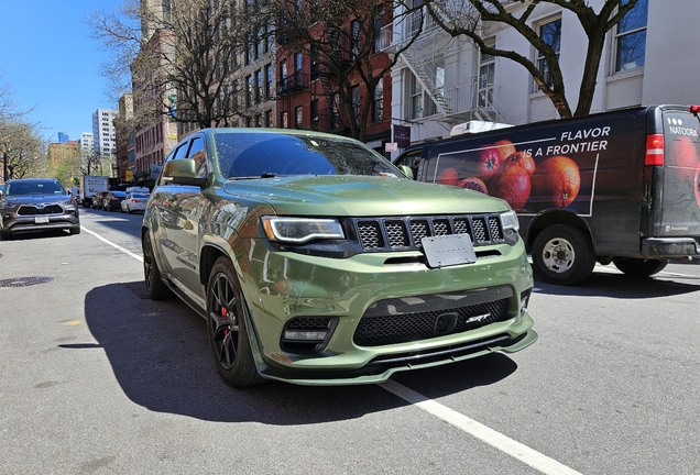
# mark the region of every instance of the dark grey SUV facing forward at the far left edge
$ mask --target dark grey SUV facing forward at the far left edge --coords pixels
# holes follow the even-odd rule
[[[66,229],[80,233],[78,205],[55,178],[11,179],[0,197],[0,231],[3,240],[15,233]]]

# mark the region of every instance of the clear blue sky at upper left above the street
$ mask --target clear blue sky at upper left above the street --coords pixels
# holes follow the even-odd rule
[[[34,111],[42,135],[78,140],[92,132],[92,112],[118,109],[100,76],[102,45],[85,19],[96,10],[117,11],[121,0],[3,0],[0,18],[0,85],[19,110]]]

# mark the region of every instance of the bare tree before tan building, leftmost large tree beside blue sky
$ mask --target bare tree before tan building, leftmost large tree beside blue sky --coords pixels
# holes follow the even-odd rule
[[[130,77],[139,106],[134,111],[167,114],[169,120],[200,128],[230,125],[241,113],[231,86],[240,70],[238,55],[250,32],[265,24],[264,14],[237,11],[233,1],[163,5],[163,10],[142,9],[139,1],[125,0],[119,13],[95,12],[88,20],[95,36],[113,51],[105,69],[112,87]],[[119,93],[124,89],[116,87]]]

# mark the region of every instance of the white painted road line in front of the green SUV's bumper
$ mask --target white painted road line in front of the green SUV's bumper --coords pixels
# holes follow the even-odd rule
[[[387,379],[386,382],[379,384],[379,386],[544,474],[580,475],[579,472],[560,464],[556,460],[550,459],[527,445],[514,441],[513,439],[488,428],[481,422],[477,422],[475,420],[445,407],[433,399],[428,399],[422,394],[416,393],[394,380]]]

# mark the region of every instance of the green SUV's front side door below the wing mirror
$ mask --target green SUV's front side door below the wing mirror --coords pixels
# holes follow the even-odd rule
[[[206,176],[207,153],[204,135],[195,135],[187,144],[187,158],[196,163],[198,176]],[[174,185],[169,211],[175,216],[174,227],[167,231],[169,241],[177,251],[173,270],[177,278],[195,292],[204,295],[199,281],[199,223],[206,200],[201,188],[192,185]]]

